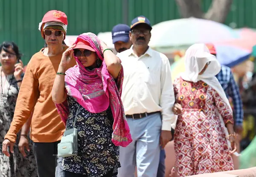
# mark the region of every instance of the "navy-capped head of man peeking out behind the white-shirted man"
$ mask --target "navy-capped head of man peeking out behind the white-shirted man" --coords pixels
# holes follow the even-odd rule
[[[118,24],[113,27],[112,40],[118,53],[131,48],[132,43],[129,38],[130,30],[131,28],[125,24]]]

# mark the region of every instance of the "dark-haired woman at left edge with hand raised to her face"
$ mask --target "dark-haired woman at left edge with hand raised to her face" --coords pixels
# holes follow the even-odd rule
[[[0,143],[2,144],[12,122],[20,84],[24,76],[21,53],[14,42],[3,42],[0,45],[0,63]],[[27,134],[18,133],[13,147],[14,153],[6,157],[2,151],[0,152],[1,177],[37,177],[35,156],[28,139]],[[25,145],[22,142],[26,142],[27,154],[24,152]],[[18,143],[24,145],[23,153],[19,152]]]

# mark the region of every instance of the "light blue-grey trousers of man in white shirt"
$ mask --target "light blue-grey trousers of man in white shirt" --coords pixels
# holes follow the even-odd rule
[[[127,147],[120,146],[117,177],[157,177],[160,160],[160,132],[162,121],[160,113],[141,119],[127,118],[132,142]]]

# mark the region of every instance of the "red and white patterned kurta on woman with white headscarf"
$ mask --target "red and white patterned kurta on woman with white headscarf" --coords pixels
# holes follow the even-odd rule
[[[182,105],[175,128],[176,167],[179,177],[233,170],[224,127],[233,114],[218,93],[203,81],[174,81],[176,103]]]

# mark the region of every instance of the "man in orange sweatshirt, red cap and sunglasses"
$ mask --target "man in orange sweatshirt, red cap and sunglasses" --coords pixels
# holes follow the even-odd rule
[[[3,153],[10,156],[16,135],[29,119],[32,110],[30,138],[36,157],[39,177],[63,177],[57,146],[65,126],[52,101],[52,85],[61,62],[62,53],[68,48],[62,42],[67,32],[67,16],[61,11],[48,11],[39,23],[47,48],[35,53],[29,61],[17,98],[15,114],[3,141]],[[75,60],[67,69],[76,65]]]

